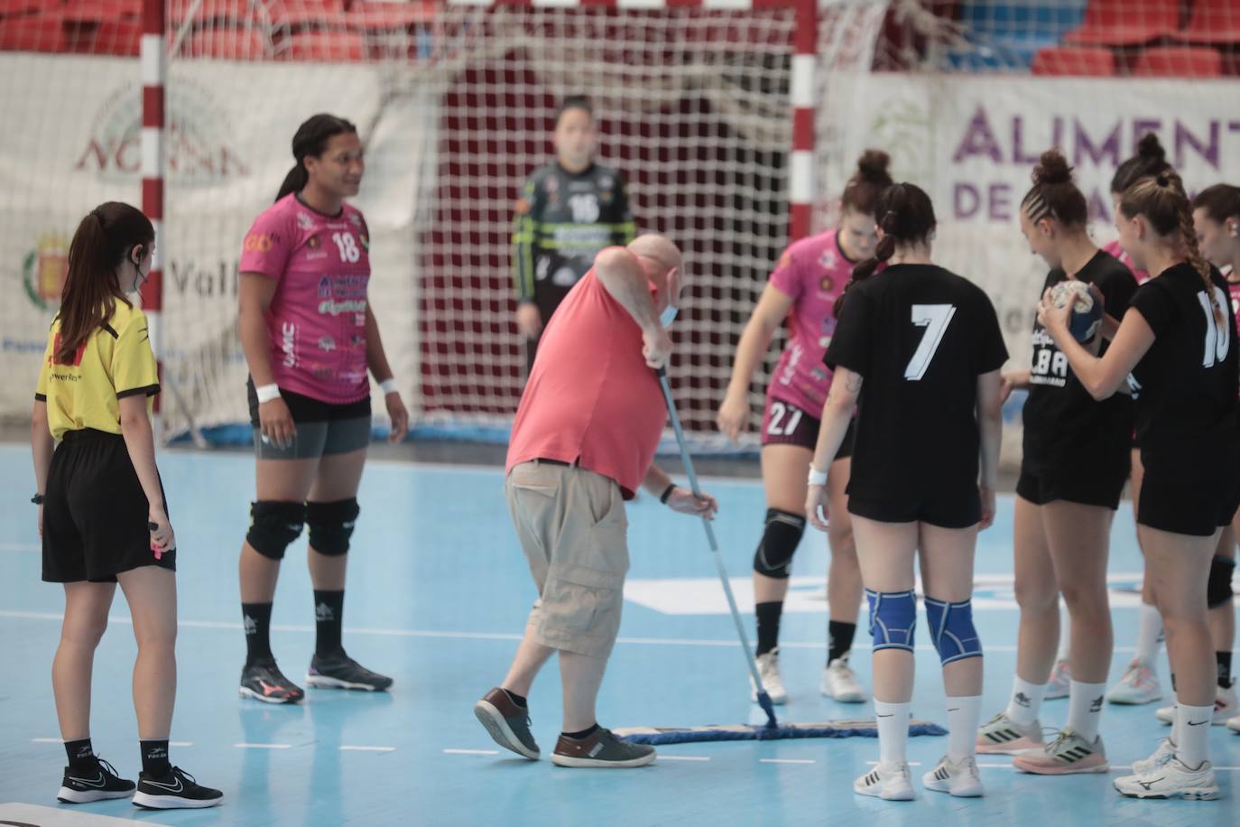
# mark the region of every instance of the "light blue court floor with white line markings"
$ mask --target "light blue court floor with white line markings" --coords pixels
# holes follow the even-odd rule
[[[882,802],[854,796],[852,780],[878,758],[869,738],[688,744],[662,748],[640,770],[564,770],[498,754],[471,705],[503,676],[533,600],[516,544],[498,469],[373,461],[360,501],[345,604],[348,651],[396,677],[387,694],[309,692],[299,707],[237,697],[244,642],[237,553],[253,495],[244,455],[166,451],[160,467],[180,546],[180,691],[172,760],[224,790],[208,811],[144,813],[128,801],[72,807],[76,813],[155,825],[1236,825],[1240,735],[1210,735],[1224,798],[1138,802],[1121,798],[1107,776],[1037,777],[1004,756],[986,756],[987,796],[957,800],[920,789],[920,774],[945,751],[945,738],[914,738],[909,758],[919,798]],[[675,459],[665,467],[678,470]],[[0,805],[57,807],[64,764],[51,693],[63,593],[40,582],[29,449],[0,445]],[[738,598],[764,513],[751,481],[708,480],[719,497],[718,533]],[[631,582],[600,698],[613,728],[760,720],[732,621],[713,579],[701,526],[652,497],[632,503]],[[1016,665],[1012,598],[1012,502],[977,553],[978,626],[986,647],[983,717],[1007,699]],[[1131,512],[1116,518],[1111,552],[1118,677],[1135,640],[1141,558]],[[273,646],[290,677],[312,651],[312,604],[305,541],[289,552],[277,595]],[[795,565],[784,620],[786,722],[870,715],[872,707],[828,703],[817,691],[825,657],[826,539],[810,533]],[[123,775],[139,770],[129,692],[134,643],[118,593],[94,673],[95,749]],[[751,629],[751,614],[746,616]],[[924,627],[924,625],[923,625]],[[914,715],[944,723],[937,660],[918,652]],[[869,684],[868,637],[854,665]],[[1167,683],[1166,658],[1159,666]],[[543,754],[559,725],[554,665],[531,698]],[[1063,724],[1066,701],[1048,702],[1042,723]],[[1102,734],[1112,776],[1145,758],[1166,729],[1153,705],[1110,707]],[[62,806],[63,810],[71,807]],[[2,807],[0,807],[2,812]],[[11,823],[11,822],[10,822]],[[69,822],[66,822],[69,823]]]

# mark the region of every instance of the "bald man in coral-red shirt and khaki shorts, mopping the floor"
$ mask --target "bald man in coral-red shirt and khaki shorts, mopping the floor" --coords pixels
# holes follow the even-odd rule
[[[474,707],[497,744],[537,760],[526,696],[559,653],[560,766],[641,766],[651,746],[598,725],[595,699],[620,629],[629,570],[624,501],[637,486],[686,515],[713,518],[653,465],[667,423],[658,378],[681,293],[681,250],[662,236],[609,247],[560,304],[538,346],[512,425],[505,491],[538,600],[507,677]]]

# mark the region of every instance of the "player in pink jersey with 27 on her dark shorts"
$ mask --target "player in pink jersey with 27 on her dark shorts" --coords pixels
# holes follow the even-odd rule
[[[774,703],[787,701],[779,668],[780,615],[792,555],[805,533],[806,476],[818,439],[822,405],[831,387],[831,371],[822,363],[822,355],[836,327],[832,307],[852,276],[853,265],[874,254],[878,244],[874,203],[892,185],[888,164],[885,153],[867,150],[844,187],[839,227],[794,243],[780,258],[737,345],[732,381],[717,418],[719,430],[735,441],[749,424],[749,383],[754,371],[770,347],[771,336],[785,319],[790,319],[787,347],[766,388],[761,423],[766,517],[754,555],[758,667]],[[828,533],[831,614],[827,666],[820,689],[836,701],[861,703],[868,696],[848,666],[862,599],[861,569],[844,495],[851,455],[852,428],[831,469],[836,520]]]

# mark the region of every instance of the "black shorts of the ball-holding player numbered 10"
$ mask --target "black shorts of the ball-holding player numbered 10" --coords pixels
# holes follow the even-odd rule
[[[1146,469],[1137,523],[1176,534],[1210,537],[1220,527],[1231,524],[1238,507],[1240,485],[1235,480],[1204,481]]]

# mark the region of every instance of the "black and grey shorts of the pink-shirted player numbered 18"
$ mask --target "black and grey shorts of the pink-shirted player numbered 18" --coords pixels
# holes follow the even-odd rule
[[[298,433],[291,445],[277,448],[263,440],[253,379],[246,382],[246,394],[249,399],[249,424],[254,429],[254,455],[260,460],[319,459],[329,454],[348,454],[371,443],[370,397],[337,405],[280,388],[280,397],[289,407]]]

